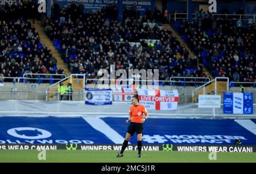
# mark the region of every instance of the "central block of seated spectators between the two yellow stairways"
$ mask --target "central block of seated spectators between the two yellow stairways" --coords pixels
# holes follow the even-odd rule
[[[205,77],[195,58],[180,45],[171,31],[157,24],[159,12],[148,9],[144,16],[125,9],[118,21],[115,6],[97,12],[80,10],[72,3],[67,9],[53,5],[53,14],[43,22],[44,31],[53,40],[72,73],[96,78],[101,68],[159,69],[160,80],[172,76]],[[76,11],[76,15],[72,13]]]

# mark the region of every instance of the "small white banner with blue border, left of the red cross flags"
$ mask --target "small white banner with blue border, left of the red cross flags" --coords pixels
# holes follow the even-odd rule
[[[112,90],[85,88],[85,104],[106,105],[112,104]]]

